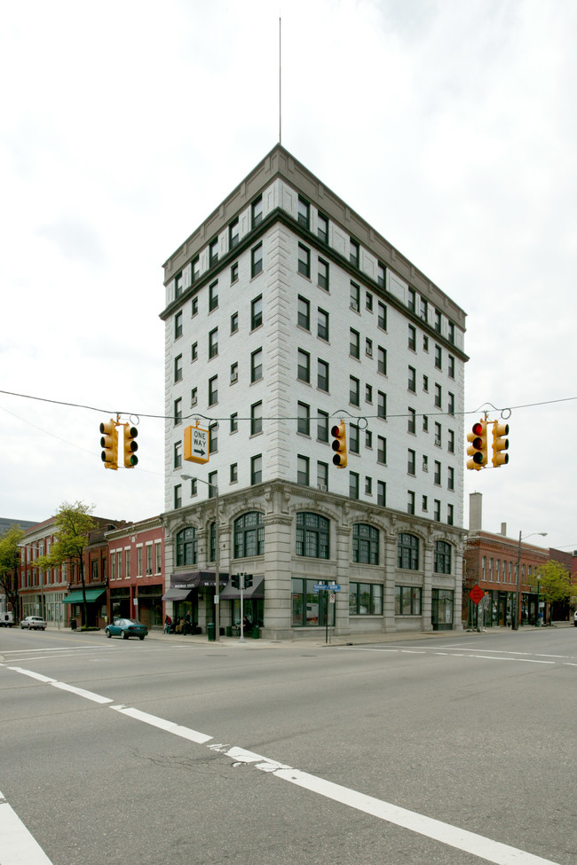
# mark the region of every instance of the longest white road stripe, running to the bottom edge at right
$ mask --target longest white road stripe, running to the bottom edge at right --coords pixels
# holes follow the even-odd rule
[[[405,808],[399,808],[389,802],[383,802],[381,799],[366,796],[364,793],[356,792],[356,790],[349,790],[347,787],[341,787],[340,784],[323,781],[322,778],[308,775],[306,772],[299,772],[297,769],[281,768],[277,769],[273,775],[283,781],[303,787],[304,790],[312,790],[314,793],[319,793],[320,796],[341,802],[357,811],[372,814],[380,820],[386,820],[419,835],[433,838],[440,841],[441,844],[455,847],[465,853],[471,853],[479,859],[494,862],[495,865],[521,865],[521,863],[523,865],[557,865],[549,859],[541,859],[541,856],[534,856],[532,853],[518,850],[517,847],[502,844],[500,841],[492,841],[490,838],[476,835],[474,832],[459,829],[440,820],[425,817],[423,814],[416,814],[415,811],[407,811]]]

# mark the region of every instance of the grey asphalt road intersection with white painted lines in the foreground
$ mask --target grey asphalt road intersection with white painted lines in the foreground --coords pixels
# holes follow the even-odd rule
[[[574,865],[577,629],[0,632],[1,865]]]

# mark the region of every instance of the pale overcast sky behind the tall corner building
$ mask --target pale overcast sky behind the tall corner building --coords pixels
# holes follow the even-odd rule
[[[279,139],[280,12],[282,144],[468,314],[465,428],[511,409],[465,525],[577,549],[567,0],[4,2],[0,516],[162,512],[162,263]]]

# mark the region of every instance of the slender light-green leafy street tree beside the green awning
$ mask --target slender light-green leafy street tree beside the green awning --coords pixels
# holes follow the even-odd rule
[[[91,517],[92,508],[76,501],[74,505],[64,502],[54,517],[55,540],[46,555],[36,559],[36,567],[41,570],[57,568],[67,562],[78,569],[83,586],[83,623],[88,625],[88,604],[86,602],[86,581],[84,578],[84,549],[90,543],[91,531],[98,523]]]

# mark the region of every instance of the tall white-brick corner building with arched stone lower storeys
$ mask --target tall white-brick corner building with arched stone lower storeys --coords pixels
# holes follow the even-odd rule
[[[213,621],[218,507],[223,627],[239,572],[265,637],[461,627],[464,312],[281,145],[164,285],[168,611]]]

